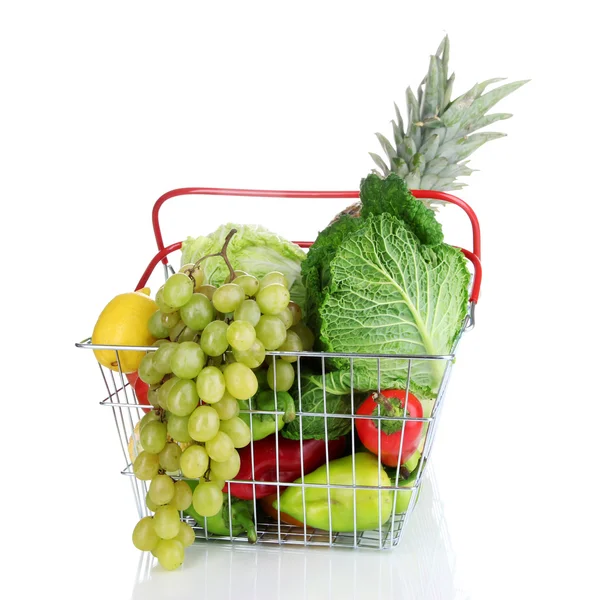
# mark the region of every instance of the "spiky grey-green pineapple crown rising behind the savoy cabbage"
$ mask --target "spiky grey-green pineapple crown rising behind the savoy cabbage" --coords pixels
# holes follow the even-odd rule
[[[454,73],[448,77],[450,43],[446,36],[435,55],[429,61],[427,75],[419,86],[417,96],[409,87],[406,90],[408,127],[405,129],[400,110],[396,109],[396,121],[392,121],[394,143],[381,133],[377,139],[384,150],[387,162],[378,154],[370,152],[379,168],[373,169],[380,177],[394,172],[402,177],[410,189],[459,190],[466,184],[457,179],[470,175],[475,169],[467,165],[469,157],[485,142],[503,137],[505,133],[480,132],[478,129],[496,121],[509,119],[512,115],[495,113],[487,115],[502,98],[511,94],[528,80],[504,84],[487,93],[485,89],[499,79],[478,83],[466,94],[450,101]],[[436,200],[423,200],[436,210],[443,204]],[[340,215],[358,216],[360,203],[353,204]],[[338,218],[338,215],[336,218]],[[334,219],[335,220],[335,219]]]

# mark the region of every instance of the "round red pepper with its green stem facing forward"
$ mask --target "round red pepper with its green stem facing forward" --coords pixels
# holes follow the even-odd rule
[[[406,405],[407,414],[404,414],[405,399],[406,392],[404,390],[384,390],[381,394],[375,392],[359,406],[357,415],[377,415],[377,408],[381,406],[380,415],[383,416],[421,418],[423,416],[423,407],[419,400],[410,393],[408,394],[408,403]],[[398,402],[393,402],[392,400],[398,400]],[[380,424],[382,424],[381,431],[378,430]],[[404,439],[402,439],[402,427],[404,427]],[[373,454],[380,454],[379,444],[381,443],[381,462],[389,467],[395,467],[398,464],[401,440],[401,465],[416,452],[421,442],[423,421],[355,419],[355,428],[363,446],[370,452],[373,452]],[[384,428],[386,428],[387,432],[384,431]]]

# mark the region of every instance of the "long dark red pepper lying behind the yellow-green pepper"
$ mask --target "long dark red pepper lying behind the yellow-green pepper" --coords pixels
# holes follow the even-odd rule
[[[235,479],[246,481],[280,481],[290,483],[301,477],[301,443],[303,446],[302,472],[306,475],[311,473],[326,461],[326,450],[324,440],[288,440],[278,436],[278,447],[276,454],[276,436],[270,435],[257,442],[251,442],[248,446],[239,449],[240,471]],[[253,447],[253,461],[255,464],[255,478],[252,473],[251,446]],[[328,442],[328,456],[330,460],[342,456],[346,447],[344,437]],[[278,463],[278,471],[276,470]],[[280,491],[286,486],[280,487]],[[224,485],[225,493],[228,492],[228,483]],[[252,483],[231,483],[230,493],[243,500],[252,500],[254,497],[264,498],[276,491],[274,485],[255,485]]]

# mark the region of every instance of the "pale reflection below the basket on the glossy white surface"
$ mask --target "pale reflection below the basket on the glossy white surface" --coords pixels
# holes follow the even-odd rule
[[[430,464],[419,502],[393,550],[210,542],[188,548],[175,572],[165,571],[145,552],[132,598],[468,600],[457,589],[455,572]]]

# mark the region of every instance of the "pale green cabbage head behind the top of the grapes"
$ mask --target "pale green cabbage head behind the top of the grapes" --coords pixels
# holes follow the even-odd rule
[[[265,227],[227,223],[207,236],[188,237],[182,244],[181,265],[194,263],[207,254],[219,252],[231,229],[236,229],[237,232],[232,236],[226,254],[233,268],[246,271],[257,278],[270,271],[284,273],[292,300],[303,307],[305,289],[301,281],[301,263],[306,254],[296,244]],[[208,258],[202,265],[205,282],[211,285],[222,285],[229,274],[221,257]]]

